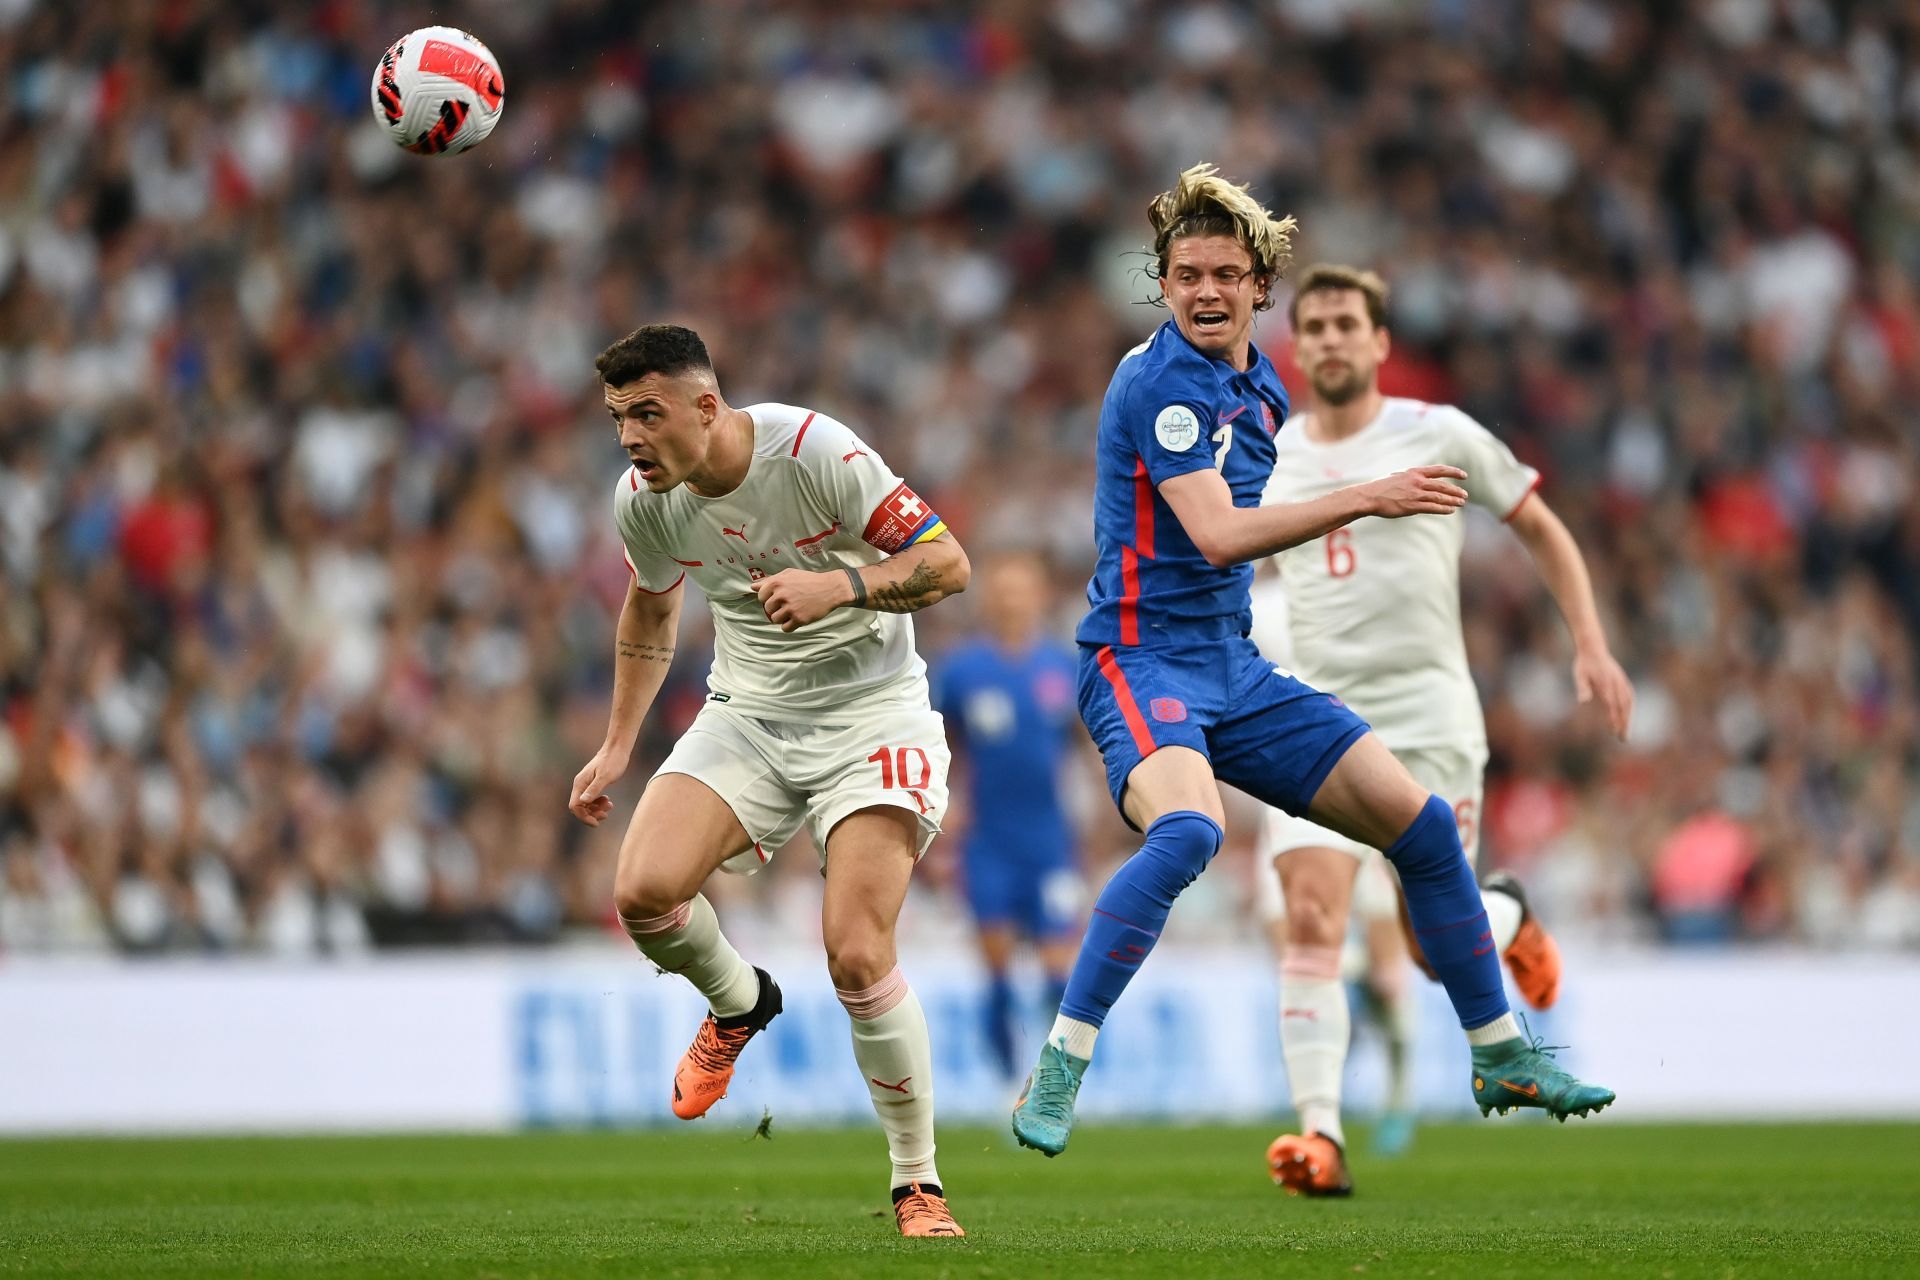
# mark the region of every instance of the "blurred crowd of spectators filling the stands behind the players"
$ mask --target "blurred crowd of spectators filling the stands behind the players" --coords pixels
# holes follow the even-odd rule
[[[505,117],[422,159],[369,77],[445,6],[0,0],[0,952],[605,929],[622,823],[564,808],[626,589],[591,357],[643,320],[1043,549],[1066,635],[1098,399],[1162,319],[1144,201],[1200,159],[1386,274],[1388,391],[1511,441],[1588,551],[1624,747],[1469,539],[1486,858],[1571,935],[1920,946],[1908,6],[455,8]],[[1298,386],[1284,307],[1258,342]],[[929,658],[968,626],[924,614]],[[1096,819],[1092,873],[1127,846]],[[810,929],[812,867],[733,910]],[[1250,936],[1244,873],[1187,915]]]

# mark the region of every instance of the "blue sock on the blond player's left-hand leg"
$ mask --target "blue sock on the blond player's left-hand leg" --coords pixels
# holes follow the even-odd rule
[[[1452,823],[1452,814],[1448,821]],[[1114,879],[1092,904],[1092,921],[1087,925],[1081,954],[1068,977],[1066,998],[1060,1002],[1062,1017],[1092,1027],[1106,1021],[1106,1011],[1119,1000],[1119,992],[1127,990],[1140,961],[1160,940],[1173,900],[1206,871],[1206,864],[1219,852],[1221,839],[1219,823],[1194,810],[1164,814],[1146,829],[1146,844],[1114,871]],[[1461,858],[1457,839],[1453,856]],[[1478,908],[1480,889],[1473,883],[1465,858],[1461,873]],[[1486,927],[1484,915],[1480,925]],[[1500,990],[1500,958],[1494,958],[1494,990]]]

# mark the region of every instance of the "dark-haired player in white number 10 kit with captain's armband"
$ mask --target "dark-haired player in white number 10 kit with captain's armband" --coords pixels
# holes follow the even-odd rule
[[[649,324],[595,361],[632,466],[614,520],[632,585],[607,741],[568,808],[599,825],[674,654],[682,583],[714,618],[708,699],[647,783],[614,871],[639,952],[708,1002],[674,1115],[726,1096],[780,986],[741,960],[701,887],[756,871],[804,823],[820,848],[828,973],[887,1130],[904,1236],[962,1236],[933,1167],[933,1054],[895,923],[947,810],[947,735],[904,614],[962,591],[968,558],[874,449],[820,413],[722,399],[705,344]]]

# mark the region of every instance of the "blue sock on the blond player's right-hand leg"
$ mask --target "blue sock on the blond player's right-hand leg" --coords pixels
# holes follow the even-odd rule
[[[1421,816],[1386,850],[1386,860],[1400,871],[1413,935],[1446,986],[1459,1025],[1486,1027],[1503,1015],[1507,990],[1500,981],[1500,952],[1448,802],[1427,796]]]

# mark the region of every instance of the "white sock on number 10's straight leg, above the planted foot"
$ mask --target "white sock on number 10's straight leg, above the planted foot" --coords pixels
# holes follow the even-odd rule
[[[920,998],[895,965],[866,990],[835,992],[852,1019],[852,1059],[887,1130],[893,1186],[939,1182],[933,1167],[933,1046]]]

